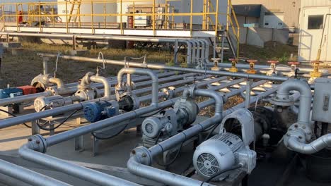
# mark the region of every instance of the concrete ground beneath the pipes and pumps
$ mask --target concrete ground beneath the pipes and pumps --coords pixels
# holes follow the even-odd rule
[[[204,118],[200,118],[202,120]],[[70,125],[74,125],[71,122]],[[70,128],[64,126],[59,128],[61,130],[69,130]],[[37,165],[35,163],[25,161],[18,156],[18,148],[27,142],[27,137],[31,134],[31,130],[26,128],[24,125],[16,125],[11,128],[5,128],[0,130],[0,159],[15,163],[19,166],[29,168],[30,170],[49,175],[52,178],[62,180],[71,185],[93,185],[89,182],[80,180],[78,178],[71,177],[64,173],[54,171],[50,168],[45,168],[44,166]],[[42,132],[45,137],[48,136],[47,132]],[[91,135],[84,136],[84,151],[75,151],[74,140],[69,140],[62,144],[57,144],[53,147],[47,149],[47,154],[55,156],[66,161],[71,161],[71,163],[77,163],[81,166],[86,166],[88,168],[93,168],[97,171],[108,173],[111,175],[119,176],[120,178],[125,178],[127,180],[144,182],[146,185],[162,185],[158,182],[153,182],[150,180],[141,180],[128,173],[126,167],[127,160],[129,159],[129,152],[139,145],[141,137],[137,135],[135,129],[126,130],[122,134],[114,137],[112,140],[103,140],[99,144],[99,153],[97,156],[92,156],[93,154],[93,140]],[[192,144],[187,145],[183,148],[180,156],[168,170],[175,173],[182,173],[190,166],[190,159],[192,159]],[[284,155],[284,154],[283,154]],[[249,185],[254,186],[327,186],[327,184],[320,184],[308,180],[305,176],[305,172],[302,168],[298,167],[294,171],[286,173],[286,168],[288,168],[289,159],[279,158],[279,154],[274,154],[273,156],[277,159],[268,159],[268,161],[258,161],[258,166],[252,175],[249,176]],[[286,155],[287,156],[287,155]],[[286,157],[283,156],[283,157]],[[155,166],[155,165],[154,165]],[[161,168],[160,166],[157,166]],[[286,175],[287,174],[287,175]],[[286,180],[284,180],[284,176]],[[197,178],[197,176],[194,176]],[[2,185],[27,185],[23,182],[9,178],[6,175],[0,174],[0,183]],[[280,184],[280,185],[279,185]],[[1,185],[1,184],[0,184]],[[223,184],[221,184],[223,185]]]

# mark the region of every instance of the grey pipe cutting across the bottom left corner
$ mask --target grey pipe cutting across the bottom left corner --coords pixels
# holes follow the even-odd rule
[[[28,168],[17,166],[0,159],[0,173],[36,186],[69,186],[65,182],[55,180],[46,175],[30,171]]]

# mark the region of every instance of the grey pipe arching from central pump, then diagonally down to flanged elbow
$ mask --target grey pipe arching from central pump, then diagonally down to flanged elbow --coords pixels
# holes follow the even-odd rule
[[[145,147],[138,147],[132,151],[132,157],[127,162],[127,168],[130,173],[135,175],[142,176],[151,180],[158,182],[163,182],[166,185],[182,185],[182,186],[207,186],[211,185],[209,183],[204,183],[199,180],[193,180],[182,175],[176,175],[168,171],[163,171],[158,168],[151,167],[153,158],[158,154],[163,153],[168,149],[178,146],[182,142],[189,140],[194,135],[199,134],[202,130],[211,127],[222,120],[222,109],[223,109],[223,98],[219,93],[207,89],[194,89],[194,86],[190,89],[185,89],[183,92],[183,97],[187,96],[202,96],[210,97],[214,99],[215,104],[215,115],[212,118],[204,120],[202,123],[192,126],[191,128],[180,132],[178,135],[170,137],[168,140],[165,140],[159,144],[154,145],[153,147],[146,149]]]

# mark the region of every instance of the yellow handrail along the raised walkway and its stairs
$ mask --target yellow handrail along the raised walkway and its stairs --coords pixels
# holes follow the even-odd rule
[[[30,26],[33,26],[33,22],[38,22],[38,27],[40,28],[40,32],[42,32],[43,27],[45,25],[42,25],[42,19],[47,22],[50,21],[52,24],[46,25],[47,27],[56,27],[57,25],[61,24],[58,23],[59,21],[56,20],[56,18],[60,18],[62,20],[65,20],[66,32],[69,33],[71,27],[83,27],[82,24],[82,17],[90,17],[91,18],[91,33],[95,33],[95,23],[103,23],[104,27],[107,28],[108,25],[108,18],[113,17],[117,18],[119,20],[117,24],[120,24],[120,30],[122,35],[124,35],[124,30],[126,27],[124,27],[123,23],[127,23],[126,17],[132,16],[133,17],[133,27],[136,27],[135,22],[135,16],[146,16],[147,18],[150,18],[151,22],[146,29],[153,30],[153,35],[156,35],[156,31],[159,29],[156,27],[156,18],[164,18],[163,24],[165,24],[166,29],[176,29],[175,27],[175,18],[176,17],[187,17],[190,19],[190,25],[188,23],[183,23],[187,25],[187,30],[190,30],[191,36],[193,36],[193,31],[195,24],[200,25],[202,27],[198,28],[198,30],[207,30],[207,31],[214,31],[217,35],[219,30],[223,29],[223,26],[226,27],[226,30],[229,29],[233,32],[233,35],[237,39],[238,46],[239,46],[239,39],[240,39],[240,25],[238,23],[238,18],[236,16],[235,11],[233,10],[233,5],[231,0],[228,0],[227,8],[228,12],[222,13],[219,11],[219,7],[223,6],[221,4],[220,0],[203,0],[200,1],[203,3],[202,11],[194,12],[195,6],[194,1],[190,0],[190,12],[187,13],[178,13],[175,11],[175,7],[173,7],[169,2],[170,1],[180,1],[180,0],[166,0],[165,4],[163,4],[161,7],[165,7],[165,11],[156,11],[156,8],[160,6],[160,4],[156,4],[156,0],[91,0],[91,1],[81,1],[81,0],[72,0],[72,1],[63,1],[63,2],[57,2],[57,1],[48,1],[48,2],[32,2],[32,3],[11,3],[11,6],[14,5],[16,7],[16,13],[11,15],[11,13],[6,13],[2,11],[2,17],[0,18],[0,21],[6,24],[6,18],[18,18],[18,9],[21,8],[23,11],[23,7],[28,7],[27,14],[23,15],[25,20],[28,20],[28,24]],[[139,3],[138,3],[139,2]],[[112,6],[113,4],[117,4],[117,6],[120,8],[120,12],[110,13],[107,12],[108,9],[106,7]],[[127,13],[123,11],[124,7],[127,7],[127,4],[129,4],[131,8],[133,8],[133,13]],[[132,6],[133,4],[133,6]],[[150,12],[146,13],[136,13],[136,5],[137,4],[148,4],[152,9]],[[84,6],[91,8],[91,13],[82,13],[81,8]],[[96,8],[93,7],[100,7],[98,5],[103,6],[103,9],[101,12],[96,12]],[[4,10],[8,6],[8,4],[1,4],[1,8]],[[45,7],[52,7],[52,9],[47,10]],[[62,6],[64,7],[65,13],[54,12],[55,6]],[[43,7],[43,8],[42,8]],[[50,11],[51,10],[51,11]],[[48,11],[48,12],[46,12]],[[219,23],[221,20],[219,16],[227,16],[227,23],[226,25],[222,25],[222,23]],[[197,23],[197,20],[194,18],[200,16],[202,18],[200,21],[201,23]],[[103,17],[103,19],[97,19],[97,17]],[[171,18],[171,20],[170,20]],[[234,21],[233,21],[234,20]],[[171,21],[171,22],[170,22]],[[195,22],[194,22],[195,21]],[[16,21],[16,27],[19,31],[21,25],[19,25]],[[234,22],[234,24],[233,24]],[[70,23],[78,23],[78,25],[71,25]],[[90,24],[83,22],[85,24]],[[99,24],[100,24],[99,23]],[[170,24],[171,23],[171,24]],[[163,25],[164,26],[164,25]],[[231,27],[231,28],[230,28]],[[85,28],[85,27],[84,27]],[[139,27],[140,28],[140,27]],[[162,28],[162,27],[161,27]],[[178,27],[179,29],[182,29],[181,27]],[[239,48],[239,47],[238,47]],[[238,51],[237,51],[238,52]],[[237,55],[238,56],[238,55]]]

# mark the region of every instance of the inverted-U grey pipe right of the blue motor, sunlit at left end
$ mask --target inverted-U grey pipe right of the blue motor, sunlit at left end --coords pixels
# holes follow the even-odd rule
[[[140,68],[122,68],[117,74],[118,86],[122,87],[123,85],[123,76],[124,74],[140,74],[140,75],[149,75],[152,80],[152,104],[153,106],[158,106],[158,75],[152,70],[140,69]]]

